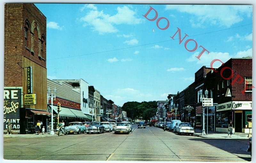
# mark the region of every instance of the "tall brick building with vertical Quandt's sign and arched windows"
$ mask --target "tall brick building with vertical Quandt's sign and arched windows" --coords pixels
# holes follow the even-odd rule
[[[46,17],[34,4],[4,6],[4,107],[17,100],[16,111],[6,112],[17,132],[25,133],[27,118],[41,120],[46,112]],[[9,94],[15,95],[9,98]],[[35,105],[24,105],[24,95],[35,94]],[[30,104],[30,103],[29,103]],[[28,117],[28,113],[33,116]],[[19,126],[19,127],[17,127]],[[5,125],[4,125],[5,129]]]

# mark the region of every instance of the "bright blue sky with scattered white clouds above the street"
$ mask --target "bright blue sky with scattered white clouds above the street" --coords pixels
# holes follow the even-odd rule
[[[169,20],[160,30],[146,4],[35,4],[46,16],[47,77],[82,78],[122,106],[166,100],[213,59],[252,56],[251,5],[150,5]],[[148,18],[155,17],[154,11]],[[166,20],[159,21],[164,28]],[[178,34],[188,35],[179,44]],[[194,39],[197,49],[184,43]],[[200,60],[195,56],[203,50]],[[188,42],[193,49],[195,43]],[[220,65],[215,64],[214,67]]]

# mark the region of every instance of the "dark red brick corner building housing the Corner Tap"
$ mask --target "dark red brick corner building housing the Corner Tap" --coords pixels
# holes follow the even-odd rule
[[[252,122],[252,58],[231,58],[216,71],[207,74],[204,88],[213,103],[218,103],[216,131],[227,132],[232,120],[235,132],[248,133],[246,125]]]

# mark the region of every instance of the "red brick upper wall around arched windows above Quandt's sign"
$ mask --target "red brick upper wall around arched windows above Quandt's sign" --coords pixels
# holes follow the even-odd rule
[[[32,60],[40,66],[46,68],[46,60],[41,60],[38,57],[39,39],[37,46],[34,46],[34,54],[25,48],[25,22],[28,22],[30,27],[32,24],[37,24],[40,29],[40,37],[44,35],[46,40],[46,18],[36,8],[34,4],[10,3],[4,6],[4,86],[5,87],[21,87],[22,86],[22,67],[28,67],[26,62],[22,61],[22,56]],[[30,31],[30,29],[29,29]],[[32,33],[28,31],[28,35]],[[35,34],[36,35],[36,34]],[[29,37],[28,37],[29,38]],[[31,39],[31,37],[30,37]],[[28,43],[31,46],[31,41]],[[40,44],[41,45],[41,44]],[[46,59],[46,43],[44,41],[44,56]],[[31,49],[31,47],[28,47]]]

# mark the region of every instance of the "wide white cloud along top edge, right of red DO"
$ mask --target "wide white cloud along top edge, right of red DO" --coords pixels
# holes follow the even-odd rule
[[[209,25],[230,27],[244,20],[244,16],[252,17],[252,5],[166,5],[165,10],[177,10],[191,14],[190,23],[194,27]],[[221,12],[216,12],[221,11]]]

